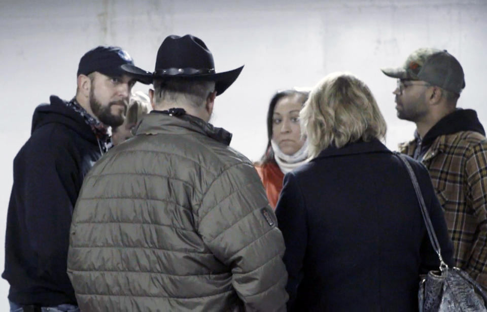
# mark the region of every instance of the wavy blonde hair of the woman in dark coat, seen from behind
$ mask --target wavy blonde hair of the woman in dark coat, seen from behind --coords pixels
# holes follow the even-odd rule
[[[323,78],[311,90],[299,119],[313,157],[330,146],[384,140],[387,130],[372,92],[350,73],[332,73]]]

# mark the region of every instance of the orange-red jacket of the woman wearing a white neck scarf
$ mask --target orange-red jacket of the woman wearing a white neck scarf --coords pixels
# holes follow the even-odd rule
[[[268,162],[264,165],[255,165],[257,172],[264,185],[267,199],[272,209],[275,209],[279,194],[283,189],[284,174],[275,162]]]

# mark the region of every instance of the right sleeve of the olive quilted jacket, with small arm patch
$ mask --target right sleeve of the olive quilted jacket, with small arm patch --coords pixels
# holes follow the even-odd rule
[[[284,239],[250,163],[224,170],[201,201],[197,228],[206,246],[231,268],[247,311],[286,310]]]

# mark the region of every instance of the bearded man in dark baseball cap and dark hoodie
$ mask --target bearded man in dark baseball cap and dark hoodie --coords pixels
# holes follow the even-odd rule
[[[111,145],[110,126],[125,119],[135,80],[118,47],[88,51],[78,67],[76,96],[36,108],[31,136],[14,159],[7,216],[5,271],[15,311],[77,311],[66,274],[69,225],[83,178]]]

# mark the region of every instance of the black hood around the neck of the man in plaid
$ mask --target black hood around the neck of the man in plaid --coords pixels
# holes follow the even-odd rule
[[[457,109],[440,119],[423,138],[423,144],[432,143],[440,135],[453,134],[460,131],[475,131],[485,135],[485,130],[474,110]]]

